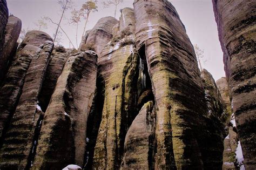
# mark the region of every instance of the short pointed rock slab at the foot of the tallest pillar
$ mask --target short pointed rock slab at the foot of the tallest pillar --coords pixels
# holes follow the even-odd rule
[[[120,169],[153,169],[154,125],[153,102],[147,102],[130,126],[124,144]]]

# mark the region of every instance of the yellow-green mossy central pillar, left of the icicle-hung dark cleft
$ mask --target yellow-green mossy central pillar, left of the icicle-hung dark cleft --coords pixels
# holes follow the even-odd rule
[[[134,26],[132,9],[131,13],[133,15],[123,17],[133,21]],[[120,19],[119,25],[122,21]],[[119,31],[122,32],[119,25],[117,31],[113,29],[113,39],[98,58],[98,72],[105,84],[105,99],[93,157],[93,168],[96,169],[119,168],[125,134],[134,119],[131,113],[136,112],[138,53],[132,32],[116,37]]]

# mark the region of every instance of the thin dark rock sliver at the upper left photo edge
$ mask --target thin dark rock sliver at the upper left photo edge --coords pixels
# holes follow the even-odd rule
[[[8,15],[9,11],[7,8],[7,3],[6,0],[1,0],[0,1],[0,60],[3,60],[2,55],[3,55],[3,46],[4,46],[4,34],[5,34],[5,26],[8,22]],[[2,74],[3,70],[2,67],[4,65],[2,62],[0,63],[0,74]],[[0,76],[0,83],[1,83],[1,76]]]

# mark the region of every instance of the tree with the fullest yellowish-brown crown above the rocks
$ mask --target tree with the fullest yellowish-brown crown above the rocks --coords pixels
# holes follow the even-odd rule
[[[85,34],[85,29],[86,29],[87,22],[89,20],[90,13],[98,11],[97,8],[98,8],[97,0],[89,0],[89,1],[87,1],[86,3],[84,3],[82,5],[82,8],[80,10],[82,11],[82,16],[85,19],[85,24],[84,24],[84,30],[83,30],[82,38],[83,38],[83,36]]]

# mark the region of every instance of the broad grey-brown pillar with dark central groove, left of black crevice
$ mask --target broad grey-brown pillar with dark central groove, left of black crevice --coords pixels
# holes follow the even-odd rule
[[[33,169],[83,166],[87,117],[96,87],[97,55],[70,56],[45,112]]]

